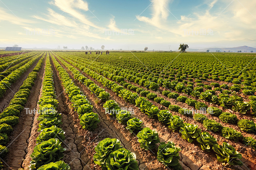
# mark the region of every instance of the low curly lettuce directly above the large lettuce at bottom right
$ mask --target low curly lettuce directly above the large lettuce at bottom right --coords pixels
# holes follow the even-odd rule
[[[226,139],[232,139],[235,142],[243,141],[244,137],[241,132],[238,132],[232,128],[224,127],[221,131],[221,136]]]

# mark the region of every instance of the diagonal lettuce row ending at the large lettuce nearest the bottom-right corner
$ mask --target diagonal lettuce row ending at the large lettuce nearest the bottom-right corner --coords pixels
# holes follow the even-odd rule
[[[81,68],[81,66],[79,68]],[[220,162],[226,162],[231,165],[242,165],[242,162],[239,160],[242,158],[241,154],[235,151],[235,148],[233,146],[227,143],[223,143],[223,145],[217,145],[216,143],[212,144],[212,140],[214,140],[215,142],[217,142],[217,140],[209,135],[208,132],[200,133],[201,129],[198,129],[197,125],[183,122],[183,120],[179,116],[172,115],[168,110],[160,111],[150,101],[146,100],[143,97],[138,97],[137,93],[132,93],[131,91],[124,89],[122,86],[119,86],[116,83],[104,78],[103,76],[98,75],[90,69],[84,68],[84,72],[90,75],[92,78],[95,78],[104,86],[113,89],[113,92],[116,92],[124,100],[135,104],[137,107],[140,108],[143,113],[149,115],[150,117],[157,116],[160,122],[169,124],[170,129],[180,130],[180,132],[182,133],[182,138],[188,140],[188,142],[192,142],[193,139],[200,137],[200,135],[202,134],[201,139],[203,141],[199,142],[199,144],[202,148],[204,148],[204,150],[206,150],[206,148],[213,148]],[[209,142],[209,140],[211,142]],[[208,151],[210,151],[209,149]],[[223,155],[222,153],[225,154]],[[231,155],[226,153],[229,153]],[[233,158],[234,155],[236,156]],[[229,160],[229,158],[231,159]]]

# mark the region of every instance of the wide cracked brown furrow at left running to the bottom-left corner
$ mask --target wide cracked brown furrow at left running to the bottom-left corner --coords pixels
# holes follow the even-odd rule
[[[35,63],[36,64],[36,63]],[[30,71],[35,67],[33,64],[30,67]],[[37,101],[40,97],[40,88],[42,84],[42,78],[44,74],[45,60],[42,63],[42,67],[40,68],[37,78],[35,80],[35,85],[32,87],[27,103],[25,104],[25,108],[29,108],[28,111],[25,109],[20,113],[19,123],[13,128],[13,132],[9,137],[8,149],[9,152],[7,156],[4,158],[4,162],[6,163],[4,169],[19,169],[21,168],[23,159],[26,157],[28,153],[28,141],[29,137],[33,136],[31,132],[32,124],[34,122],[34,111],[32,111],[37,106]],[[28,70],[28,73],[29,73]],[[26,76],[22,77],[24,79],[27,78],[28,73],[25,73]],[[23,81],[17,81],[22,82]]]

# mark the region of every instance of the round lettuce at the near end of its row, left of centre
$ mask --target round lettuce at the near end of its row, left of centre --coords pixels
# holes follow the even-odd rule
[[[96,129],[97,124],[100,122],[97,113],[85,113],[80,118],[80,125],[83,126],[83,129],[88,129],[89,131]]]

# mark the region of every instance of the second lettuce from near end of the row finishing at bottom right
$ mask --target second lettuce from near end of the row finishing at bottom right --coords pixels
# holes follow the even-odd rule
[[[218,144],[217,139],[208,132],[200,132],[196,141],[201,145],[202,150],[211,152],[212,146]]]

